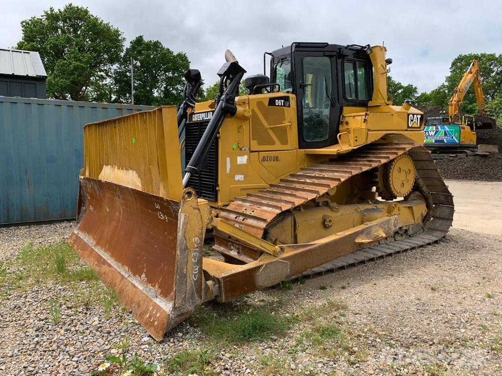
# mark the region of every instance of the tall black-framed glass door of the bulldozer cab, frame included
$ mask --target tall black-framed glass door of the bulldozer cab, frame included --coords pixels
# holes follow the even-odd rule
[[[341,115],[337,58],[323,52],[295,52],[298,143],[301,149],[337,143]]]

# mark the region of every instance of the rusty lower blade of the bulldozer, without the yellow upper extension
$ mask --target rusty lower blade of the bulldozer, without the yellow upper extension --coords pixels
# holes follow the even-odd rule
[[[180,203],[82,177],[68,242],[160,341],[202,303],[204,232],[193,191]]]

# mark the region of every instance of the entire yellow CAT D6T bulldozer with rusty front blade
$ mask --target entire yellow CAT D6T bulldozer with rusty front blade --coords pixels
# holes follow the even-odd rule
[[[270,78],[247,77],[248,95],[227,51],[215,100],[196,103],[190,70],[178,108],[84,127],[68,241],[157,340],[205,301],[424,246],[451,226],[423,113],[388,101],[385,47],[266,54]]]

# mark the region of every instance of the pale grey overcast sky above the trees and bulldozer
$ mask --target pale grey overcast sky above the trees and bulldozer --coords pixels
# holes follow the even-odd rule
[[[60,0],[0,0],[0,47],[21,38],[21,20],[40,16]],[[248,74],[263,71],[263,52],[294,41],[382,44],[394,60],[392,76],[419,91],[444,81],[451,61],[469,52],[502,52],[502,2],[475,1],[73,1],[121,30],[160,40],[187,53],[206,83],[229,48]],[[268,73],[268,72],[267,72]]]

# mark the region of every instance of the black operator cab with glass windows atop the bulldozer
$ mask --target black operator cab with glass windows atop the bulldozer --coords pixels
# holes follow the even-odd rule
[[[296,95],[300,148],[338,143],[343,107],[367,107],[373,90],[370,52],[369,45],[295,42],[266,53],[271,84]]]

